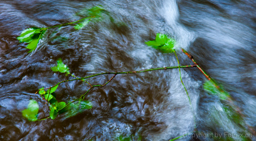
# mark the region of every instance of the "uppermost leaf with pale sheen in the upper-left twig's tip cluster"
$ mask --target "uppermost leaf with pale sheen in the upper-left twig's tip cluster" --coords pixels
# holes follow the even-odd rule
[[[26,42],[32,39],[35,33],[40,33],[40,29],[28,28],[22,31],[21,35],[17,39],[21,42]]]

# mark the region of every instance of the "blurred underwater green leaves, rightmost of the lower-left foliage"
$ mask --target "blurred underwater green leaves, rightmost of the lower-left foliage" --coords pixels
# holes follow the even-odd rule
[[[71,103],[70,110],[66,112],[66,118],[76,116],[78,113],[83,112],[85,109],[91,109],[91,108],[92,108],[92,103],[90,101],[80,101],[78,103]]]

